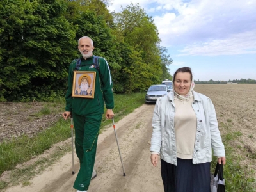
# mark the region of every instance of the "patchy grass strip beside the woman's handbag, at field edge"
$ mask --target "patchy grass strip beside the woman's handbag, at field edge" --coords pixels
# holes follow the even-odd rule
[[[246,164],[242,166],[244,159],[253,159],[252,152],[246,150],[246,146],[242,147],[243,141],[240,140],[243,134],[240,131],[232,131],[232,120],[227,120],[228,124],[219,122],[220,127],[227,131],[222,135],[222,140],[225,145],[226,164],[223,166],[226,192],[252,192],[256,191],[255,170]],[[237,145],[239,141],[241,145]],[[213,156],[211,163],[211,172],[214,173],[217,158]]]

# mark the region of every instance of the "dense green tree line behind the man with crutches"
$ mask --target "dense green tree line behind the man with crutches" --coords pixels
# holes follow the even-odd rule
[[[0,101],[64,95],[81,36],[106,58],[115,93],[171,79],[172,58],[152,17],[137,4],[109,12],[111,0],[1,0]]]

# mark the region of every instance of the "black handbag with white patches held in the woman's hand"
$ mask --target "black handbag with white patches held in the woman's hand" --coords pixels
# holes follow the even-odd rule
[[[211,192],[225,192],[222,163],[217,162],[214,174],[211,173]]]

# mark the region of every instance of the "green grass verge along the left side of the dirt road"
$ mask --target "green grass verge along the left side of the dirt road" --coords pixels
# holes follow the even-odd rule
[[[115,95],[115,109],[113,110],[115,113],[115,122],[118,122],[125,115],[132,113],[134,109],[140,107],[144,103],[144,97],[145,93]],[[58,99],[56,102],[62,104],[63,108],[65,108],[65,103],[62,100]],[[54,103],[45,104],[44,108],[35,113],[34,116],[48,115],[52,111],[49,106],[54,106]],[[106,112],[106,109],[104,110]],[[112,124],[112,121],[107,120],[103,115],[100,129],[104,129],[109,124]],[[0,180],[0,189],[16,185],[20,182],[24,186],[29,185],[29,179],[49,166],[49,161],[40,159],[40,161],[38,160],[28,167],[26,166],[26,168],[15,168],[17,164],[29,161],[29,159],[51,148],[55,143],[67,140],[70,136],[70,120],[65,121],[63,118],[60,118],[55,125],[49,127],[49,129],[45,129],[45,131],[38,132],[36,136],[28,137],[24,134],[18,138],[4,140],[0,143],[0,175],[6,170],[12,170],[9,180]],[[71,150],[71,147],[68,150]],[[61,152],[67,152],[68,150],[61,150]],[[50,158],[60,158],[63,155],[61,152]]]

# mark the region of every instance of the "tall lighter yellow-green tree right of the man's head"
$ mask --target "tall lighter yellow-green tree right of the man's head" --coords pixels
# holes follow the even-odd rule
[[[122,47],[119,82],[125,93],[145,90],[163,79],[159,36],[152,17],[139,4],[130,4],[114,14],[116,38]]]

